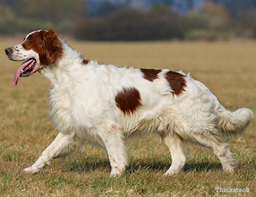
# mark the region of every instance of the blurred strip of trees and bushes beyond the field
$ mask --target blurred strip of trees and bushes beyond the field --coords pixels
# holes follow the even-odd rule
[[[256,38],[255,0],[0,0],[0,35],[85,40]]]

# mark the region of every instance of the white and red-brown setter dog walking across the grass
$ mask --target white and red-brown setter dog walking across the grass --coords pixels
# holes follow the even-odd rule
[[[127,138],[152,132],[170,149],[172,165],[165,176],[183,169],[187,143],[212,149],[224,171],[235,171],[224,140],[242,133],[253,111],[228,111],[190,74],[101,65],[68,46],[54,30],[30,32],[5,52],[11,60],[26,60],[15,72],[14,85],[37,71],[51,82],[49,117],[59,133],[25,171],[37,173],[68,147],[89,142],[107,151],[110,175],[120,176],[129,164]]]

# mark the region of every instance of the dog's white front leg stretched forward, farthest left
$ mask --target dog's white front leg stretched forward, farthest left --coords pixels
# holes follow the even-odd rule
[[[30,167],[24,169],[26,172],[37,173],[45,165],[49,165],[53,158],[56,158],[71,141],[71,135],[59,133],[55,140],[42,152],[37,161]]]

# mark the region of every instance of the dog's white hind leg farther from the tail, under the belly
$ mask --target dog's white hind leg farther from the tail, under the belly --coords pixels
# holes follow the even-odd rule
[[[172,165],[165,172],[165,176],[179,173],[186,162],[185,144],[182,142],[181,137],[176,133],[161,134],[161,139],[167,145],[168,149],[170,149],[172,156]]]

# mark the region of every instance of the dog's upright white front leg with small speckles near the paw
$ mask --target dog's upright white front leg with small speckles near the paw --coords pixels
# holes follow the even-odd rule
[[[125,166],[128,163],[128,153],[122,129],[118,126],[112,126],[111,129],[101,131],[100,137],[109,156],[111,165],[110,176],[120,176],[125,171]]]

